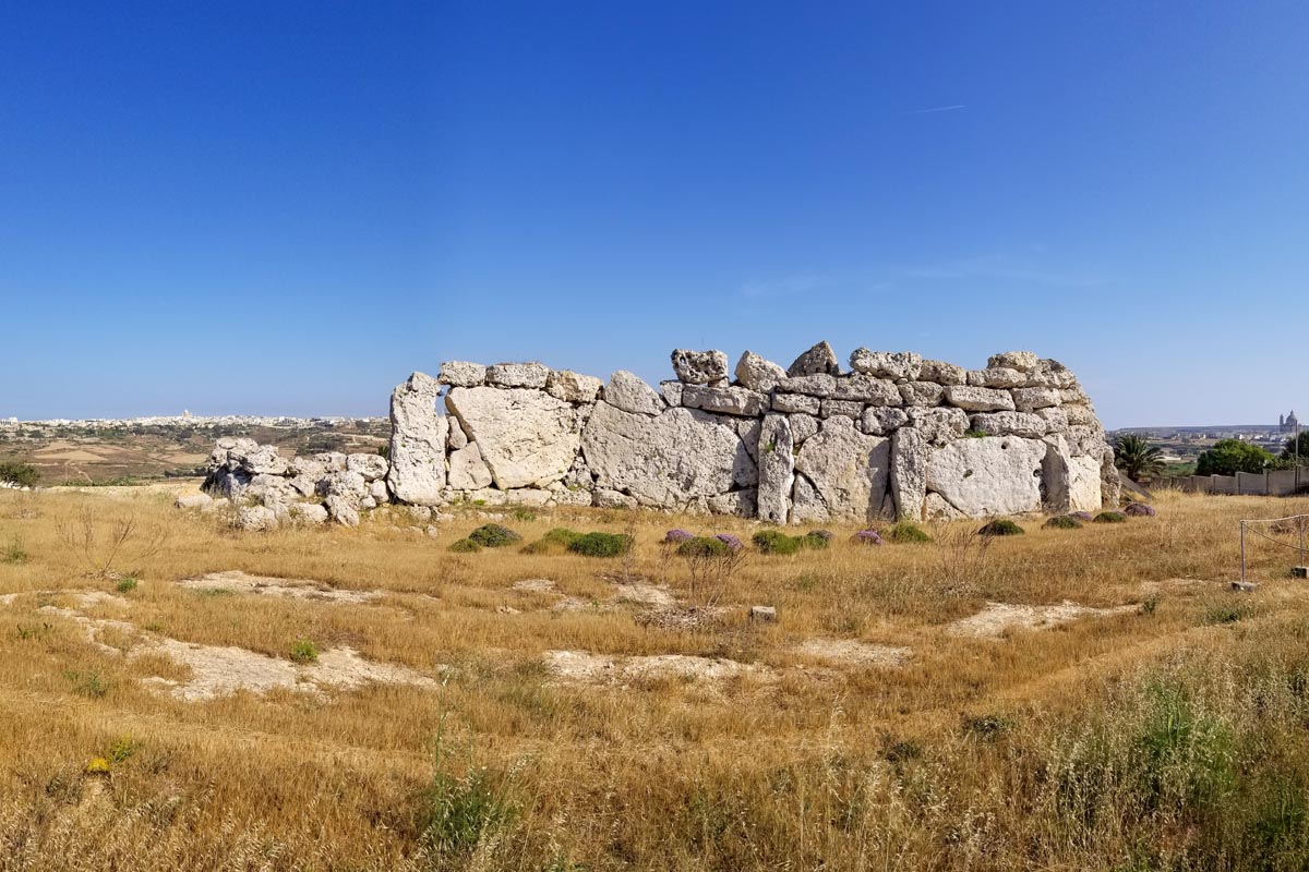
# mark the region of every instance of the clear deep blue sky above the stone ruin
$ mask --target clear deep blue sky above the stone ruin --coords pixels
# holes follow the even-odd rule
[[[1306,276],[1302,0],[0,10],[0,417],[827,339],[1275,421]]]

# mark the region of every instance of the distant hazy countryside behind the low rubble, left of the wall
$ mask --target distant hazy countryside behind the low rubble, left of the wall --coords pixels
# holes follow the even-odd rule
[[[31,429],[21,435],[0,434],[0,461],[30,463],[41,484],[124,484],[203,475],[200,467],[221,435],[247,435],[264,444],[284,446],[288,456],[317,451],[373,452],[390,437],[390,425],[351,422],[332,428],[136,428],[85,430]]]

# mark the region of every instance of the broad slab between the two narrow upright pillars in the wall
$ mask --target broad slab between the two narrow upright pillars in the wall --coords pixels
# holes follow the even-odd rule
[[[881,514],[890,467],[890,439],[860,433],[846,417],[827,418],[796,456],[833,518],[869,520]]]

